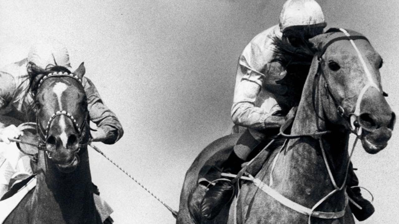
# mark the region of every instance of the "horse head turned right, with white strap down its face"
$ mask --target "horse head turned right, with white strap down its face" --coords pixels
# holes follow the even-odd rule
[[[381,86],[381,56],[354,31],[334,28],[310,41],[318,52],[311,68],[318,119],[324,117],[326,126],[343,126],[357,134],[366,152],[379,152],[395,125],[395,113]]]

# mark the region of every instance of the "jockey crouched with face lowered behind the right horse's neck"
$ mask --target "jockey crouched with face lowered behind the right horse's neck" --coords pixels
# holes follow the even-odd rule
[[[231,118],[236,126],[247,129],[227,160],[215,164],[220,178],[221,171],[237,173],[241,164],[249,160],[249,155],[266,138],[277,134],[273,130],[285,122],[288,110],[292,107],[284,86],[276,85],[287,71],[279,62],[275,62],[278,48],[275,39],[288,43],[292,47],[308,45],[308,39],[322,34],[326,27],[320,5],[314,0],[287,0],[282,6],[279,25],[275,25],[255,36],[244,48],[239,57]],[[292,112],[294,113],[294,112]],[[262,147],[263,148],[263,147]],[[351,164],[352,165],[352,164]],[[374,212],[369,201],[361,197],[356,186],[358,180],[350,166],[348,195],[363,209],[359,210],[350,203],[352,212],[358,220],[365,220]],[[229,202],[234,193],[230,181],[217,181],[210,187],[201,202],[202,215],[213,219],[221,208]]]

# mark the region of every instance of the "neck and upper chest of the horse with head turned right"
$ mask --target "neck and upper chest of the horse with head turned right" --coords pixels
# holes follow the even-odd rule
[[[313,68],[315,69],[315,68]],[[287,194],[296,198],[296,202],[312,207],[324,196],[328,195],[335,188],[328,174],[325,161],[322,156],[322,146],[326,152],[328,164],[338,187],[345,181],[346,165],[348,160],[348,139],[349,132],[342,131],[342,128],[326,124],[320,117],[324,116],[321,107],[316,107],[315,111],[312,102],[312,84],[314,75],[310,74],[302,92],[302,100],[298,106],[298,111],[292,125],[291,134],[316,133],[320,131],[331,131],[329,134],[321,136],[322,144],[319,139],[311,136],[292,139],[288,143],[286,154],[280,167],[283,175],[280,175],[280,186],[286,190]],[[323,89],[316,94],[324,94]],[[316,97],[316,105],[322,105],[321,97]],[[345,189],[345,188],[344,188]],[[344,191],[334,193],[318,209],[323,207],[328,210],[342,210],[344,203]],[[341,203],[339,203],[341,202]]]

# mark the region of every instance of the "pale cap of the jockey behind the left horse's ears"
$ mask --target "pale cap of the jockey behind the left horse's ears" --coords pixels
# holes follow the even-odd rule
[[[64,66],[71,69],[67,48],[58,41],[41,41],[32,45],[28,53],[28,61],[41,68],[47,65]]]

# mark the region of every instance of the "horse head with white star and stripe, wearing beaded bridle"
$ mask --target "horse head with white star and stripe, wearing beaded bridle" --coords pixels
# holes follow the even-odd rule
[[[83,63],[70,72],[60,66],[43,70],[31,66],[37,133],[40,150],[59,171],[70,173],[79,164],[79,150],[89,140],[87,97],[82,85]]]

